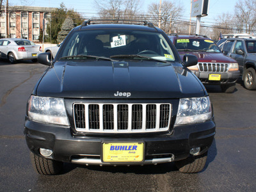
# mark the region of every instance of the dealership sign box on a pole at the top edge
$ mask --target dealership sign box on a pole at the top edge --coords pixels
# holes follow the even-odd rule
[[[204,17],[208,15],[210,0],[192,0],[191,17]]]

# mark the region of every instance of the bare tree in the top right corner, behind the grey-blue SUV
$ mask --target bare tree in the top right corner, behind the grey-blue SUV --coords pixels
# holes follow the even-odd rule
[[[250,33],[256,24],[256,0],[239,0],[235,6],[238,32]]]

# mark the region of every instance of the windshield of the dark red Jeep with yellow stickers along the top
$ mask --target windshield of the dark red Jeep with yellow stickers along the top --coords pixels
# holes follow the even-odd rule
[[[221,52],[218,45],[207,39],[177,39],[175,40],[175,47],[178,51]]]

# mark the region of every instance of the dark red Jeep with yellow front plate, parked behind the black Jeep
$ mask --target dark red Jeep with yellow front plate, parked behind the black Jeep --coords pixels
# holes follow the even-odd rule
[[[225,56],[218,45],[202,35],[169,35],[180,58],[187,54],[197,57],[198,63],[189,69],[203,84],[220,85],[222,92],[232,93],[239,78],[236,60]]]

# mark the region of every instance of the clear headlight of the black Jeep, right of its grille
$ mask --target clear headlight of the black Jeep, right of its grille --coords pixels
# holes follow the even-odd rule
[[[180,99],[175,125],[205,122],[212,116],[209,97]]]

